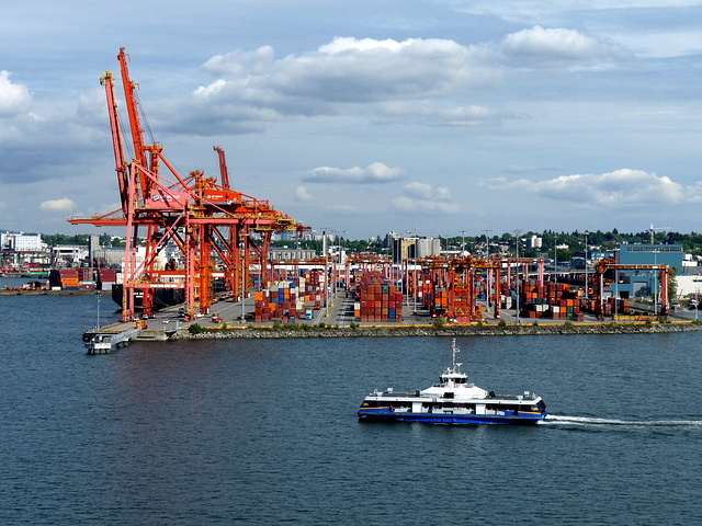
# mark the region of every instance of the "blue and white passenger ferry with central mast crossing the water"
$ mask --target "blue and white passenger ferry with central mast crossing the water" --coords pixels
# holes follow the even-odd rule
[[[415,392],[377,389],[363,400],[360,420],[424,422],[431,424],[535,424],[548,415],[541,397],[495,395],[468,382],[468,375],[456,363],[453,340],[453,366],[441,374],[439,382]]]

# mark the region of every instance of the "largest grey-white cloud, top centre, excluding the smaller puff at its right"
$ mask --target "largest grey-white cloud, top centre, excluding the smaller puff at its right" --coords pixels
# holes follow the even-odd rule
[[[476,90],[492,85],[502,66],[486,46],[464,46],[451,39],[406,41],[338,37],[315,50],[274,59],[273,48],[240,49],[212,57],[202,69],[212,83],[193,90],[176,116],[200,129],[231,129],[234,123],[272,122],[284,115],[339,115],[371,118],[405,114],[426,124],[473,125],[492,117],[488,108],[465,104]],[[460,95],[448,107],[429,99]],[[422,108],[423,106],[423,108]],[[455,107],[454,107],[455,106]],[[165,112],[166,113],[166,112]]]

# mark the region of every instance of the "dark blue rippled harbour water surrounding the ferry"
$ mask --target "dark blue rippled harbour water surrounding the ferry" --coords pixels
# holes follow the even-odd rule
[[[431,385],[451,339],[134,344],[97,300],[0,297],[0,524],[698,524],[699,333],[462,338],[472,380],[542,425],[359,422]],[[103,298],[103,323],[120,313]]]

